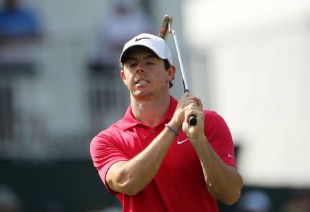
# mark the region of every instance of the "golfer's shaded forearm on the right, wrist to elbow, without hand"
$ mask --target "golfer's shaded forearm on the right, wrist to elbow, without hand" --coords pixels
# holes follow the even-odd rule
[[[240,174],[234,167],[223,163],[205,135],[192,143],[200,158],[209,193],[225,204],[234,204],[240,198],[243,184]]]

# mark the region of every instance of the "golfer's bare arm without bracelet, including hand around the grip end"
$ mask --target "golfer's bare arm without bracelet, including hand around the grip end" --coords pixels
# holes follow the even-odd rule
[[[202,111],[200,99],[197,99],[197,104],[187,106],[185,109],[185,120],[188,120],[189,115],[196,115],[196,126],[189,126],[187,121],[184,121],[183,131],[189,137],[200,159],[207,189],[211,196],[225,204],[234,204],[240,198],[242,177],[235,167],[223,163],[209,144],[204,134],[205,114]]]

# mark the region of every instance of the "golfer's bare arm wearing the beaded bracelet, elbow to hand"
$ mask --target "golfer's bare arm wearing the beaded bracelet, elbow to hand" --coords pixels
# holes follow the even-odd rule
[[[176,130],[180,130],[184,119],[184,108],[192,102],[194,100],[186,97],[180,99],[174,117],[168,124]],[[130,161],[114,163],[105,177],[110,189],[130,196],[142,191],[158,172],[175,137],[174,132],[165,128],[145,150]]]

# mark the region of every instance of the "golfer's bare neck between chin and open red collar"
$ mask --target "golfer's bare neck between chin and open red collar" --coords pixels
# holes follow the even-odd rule
[[[158,99],[138,100],[131,97],[132,114],[138,121],[146,123],[150,127],[154,127],[156,123],[163,119],[163,116],[167,113],[169,104],[169,93]]]

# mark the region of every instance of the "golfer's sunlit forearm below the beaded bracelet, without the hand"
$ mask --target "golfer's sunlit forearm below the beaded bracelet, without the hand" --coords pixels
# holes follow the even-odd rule
[[[170,125],[176,127],[174,123],[170,123]],[[129,195],[134,195],[143,190],[158,172],[175,137],[174,132],[165,128],[145,150],[118,169],[114,189]]]

